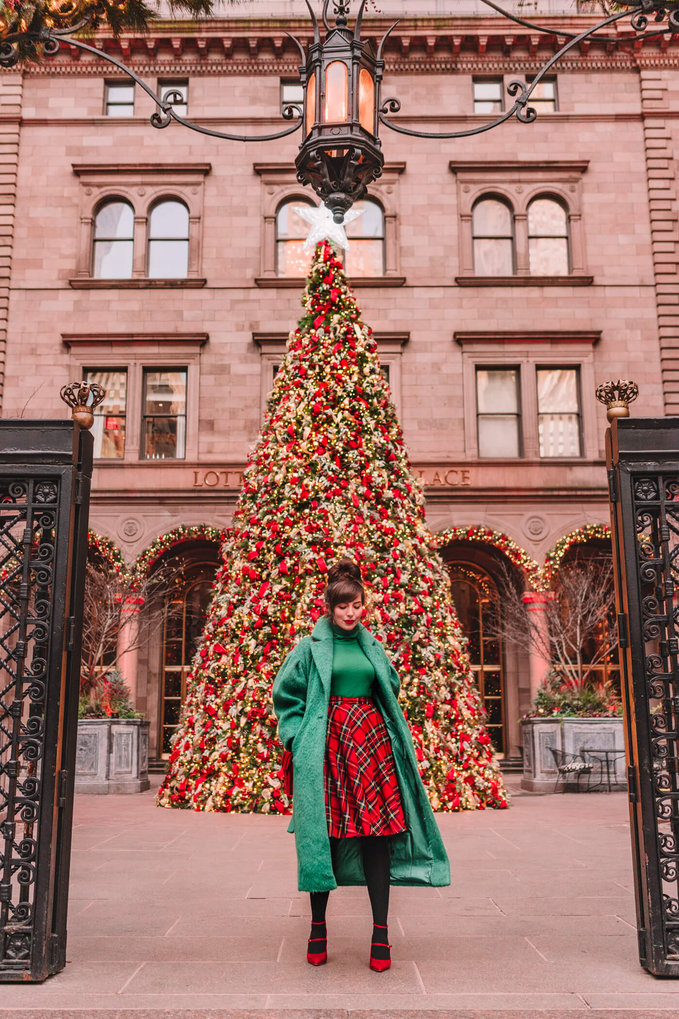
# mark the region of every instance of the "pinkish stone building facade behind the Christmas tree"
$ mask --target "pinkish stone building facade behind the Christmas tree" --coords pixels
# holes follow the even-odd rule
[[[423,130],[493,119],[508,83],[556,47],[479,10],[383,7],[364,34],[379,38],[401,8],[384,95],[401,100],[394,119]],[[572,9],[535,16],[563,32],[592,22]],[[310,40],[301,4],[161,21],[96,46],[152,89],[179,90],[203,126],[266,135],[297,95],[286,32]],[[679,408],[679,50],[629,34],[621,22],[571,51],[533,124],[448,141],[383,129],[385,172],[348,255],[509,757],[544,663],[480,635],[502,564],[541,565],[608,520],[597,383],[634,379],[638,414]],[[245,145],[156,130],[154,108],[67,43],[0,73],[2,415],[60,417],[59,387],[87,373],[109,389],[92,528],[130,562],[153,546],[150,561],[187,568],[182,625],[126,665],[160,755],[217,561],[210,528],[229,524],[299,315],[293,205],[314,196],[295,180],[297,136]]]

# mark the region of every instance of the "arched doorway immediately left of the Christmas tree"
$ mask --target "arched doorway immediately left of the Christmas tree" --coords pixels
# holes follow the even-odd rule
[[[215,577],[214,562],[184,567],[179,584],[167,598],[161,675],[161,757],[170,755],[170,741],[186,697],[186,677],[203,631]]]

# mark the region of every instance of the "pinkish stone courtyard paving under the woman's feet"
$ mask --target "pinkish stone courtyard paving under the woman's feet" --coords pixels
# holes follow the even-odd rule
[[[69,962],[1,985],[0,1016],[679,1016],[679,981],[638,964],[625,794],[517,791],[510,810],[438,817],[453,882],[392,890],[378,974],[364,889],[331,895],[329,962],[307,965],[284,818],[77,797]]]

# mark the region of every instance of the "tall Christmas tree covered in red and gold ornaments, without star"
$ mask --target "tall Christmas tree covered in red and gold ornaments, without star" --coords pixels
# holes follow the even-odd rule
[[[361,567],[435,809],[507,805],[443,561],[377,344],[333,249],[317,246],[159,793],[167,807],[287,813],[271,687],[323,611],[328,565]]]

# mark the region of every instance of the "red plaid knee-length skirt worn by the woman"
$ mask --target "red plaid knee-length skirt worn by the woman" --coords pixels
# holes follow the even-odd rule
[[[406,830],[389,734],[371,697],[331,697],[325,764],[332,839]]]

